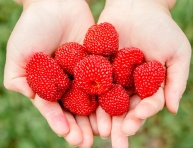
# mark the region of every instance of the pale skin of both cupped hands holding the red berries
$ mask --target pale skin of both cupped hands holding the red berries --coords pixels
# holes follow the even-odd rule
[[[42,51],[51,55],[64,42],[82,43],[87,29],[94,24],[87,4],[83,0],[21,2],[24,11],[7,46],[5,86],[34,98],[32,103],[53,131],[64,136],[70,145],[89,148],[94,133],[103,138],[111,135],[113,148],[120,145],[127,148],[128,136],[135,134],[144,121],[162,110],[164,105],[170,112],[177,112],[186,87],[191,47],[171,18],[169,10],[174,0],[106,1],[98,23],[112,23],[119,33],[120,49],[131,46],[140,48],[147,61],[155,59],[166,67],[167,77],[152,97],[142,101],[137,95],[131,97],[128,113],[111,118],[99,107],[89,119],[74,118],[70,113],[63,112],[58,103],[39,98],[25,79],[25,65],[33,53]]]

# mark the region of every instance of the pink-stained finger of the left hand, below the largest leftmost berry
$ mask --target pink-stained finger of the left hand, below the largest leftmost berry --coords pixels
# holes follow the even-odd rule
[[[70,132],[69,123],[58,102],[49,102],[37,95],[31,101],[57,135],[63,136]]]

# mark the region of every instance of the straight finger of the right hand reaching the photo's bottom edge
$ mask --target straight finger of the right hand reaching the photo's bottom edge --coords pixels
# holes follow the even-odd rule
[[[114,116],[112,118],[112,131],[111,131],[111,141],[113,148],[128,148],[129,142],[128,137],[122,133],[121,126],[125,115]]]

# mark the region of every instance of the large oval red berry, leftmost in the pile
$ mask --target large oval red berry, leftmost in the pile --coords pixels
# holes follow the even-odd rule
[[[69,85],[69,79],[58,63],[41,52],[27,63],[26,74],[32,90],[48,101],[59,100]]]

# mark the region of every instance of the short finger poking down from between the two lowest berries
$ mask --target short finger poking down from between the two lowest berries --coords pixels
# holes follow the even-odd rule
[[[101,138],[107,138],[111,134],[111,116],[100,106],[96,110],[98,131]]]

